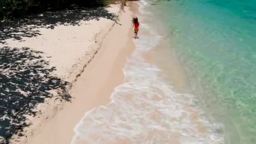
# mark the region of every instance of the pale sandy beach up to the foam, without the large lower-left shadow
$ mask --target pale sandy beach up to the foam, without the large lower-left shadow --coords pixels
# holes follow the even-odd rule
[[[37,93],[52,96],[42,96],[42,102],[37,101],[29,112],[21,112],[22,116],[18,117],[22,117],[22,123],[27,126],[22,131],[14,131],[9,143],[69,144],[75,134],[73,129],[83,114],[109,102],[114,88],[124,81],[122,68],[134,48],[130,4],[124,10],[118,4],[96,10],[49,12],[47,16],[43,13],[37,16],[41,21],[36,24],[29,20],[21,25],[13,24],[16,29],[19,26],[19,31],[15,31],[14,26],[4,27],[1,34],[3,32],[5,37],[0,39],[0,48],[6,53],[13,49],[19,53],[35,52],[35,56],[43,59],[41,62],[47,62],[40,67],[53,69],[47,74],[61,80],[59,83],[66,83]],[[24,61],[37,64],[40,59],[26,57]],[[28,70],[29,67],[26,66]],[[38,72],[38,76],[45,77],[45,69]],[[8,75],[10,69],[2,73]],[[51,77],[41,80],[48,79]],[[47,83],[35,85],[40,84],[48,87]],[[24,93],[24,97],[31,94],[22,88],[19,92]]]

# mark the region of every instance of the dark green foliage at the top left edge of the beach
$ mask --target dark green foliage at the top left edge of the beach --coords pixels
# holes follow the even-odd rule
[[[0,20],[29,13],[78,7],[102,7],[108,0],[0,0]]]

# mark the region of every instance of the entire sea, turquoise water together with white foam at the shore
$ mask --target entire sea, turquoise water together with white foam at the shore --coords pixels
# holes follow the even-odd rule
[[[140,0],[139,39],[88,143],[256,144],[256,0]],[[73,144],[76,142],[73,141]]]

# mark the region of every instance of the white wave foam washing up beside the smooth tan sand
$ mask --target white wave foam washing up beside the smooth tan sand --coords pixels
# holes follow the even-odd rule
[[[141,27],[151,29],[147,24]],[[162,38],[152,29],[149,32],[134,41],[136,50],[123,69],[129,82],[115,88],[109,104],[85,113],[75,127],[72,144],[162,144],[174,139],[181,144],[223,142],[223,136],[214,132],[221,125],[210,123],[205,117],[198,121],[208,128],[208,133],[197,130],[197,123],[187,111],[194,96],[172,91],[171,85],[160,80],[161,69],[144,61],[141,53],[151,51]]]

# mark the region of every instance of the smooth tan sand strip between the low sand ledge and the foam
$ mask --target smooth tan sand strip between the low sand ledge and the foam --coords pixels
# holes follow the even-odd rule
[[[128,7],[130,6],[129,5]],[[132,12],[125,7],[117,23],[113,24],[104,37],[100,51],[90,64],[79,74],[79,78],[69,91],[72,102],[63,104],[61,111],[47,118],[27,136],[27,144],[68,144],[74,135],[73,128],[83,114],[93,108],[109,102],[109,96],[117,85],[124,82],[123,67],[126,58],[134,49],[131,35]],[[122,33],[120,33],[122,31]],[[117,37],[118,40],[113,39]]]

